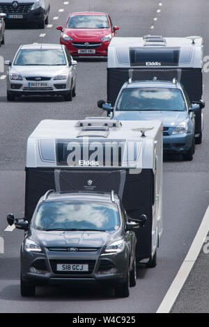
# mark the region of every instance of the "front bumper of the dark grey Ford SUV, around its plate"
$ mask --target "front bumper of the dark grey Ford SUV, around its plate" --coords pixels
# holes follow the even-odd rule
[[[40,263],[41,262],[41,263]],[[58,272],[57,263],[88,264],[88,272]],[[127,276],[128,259],[124,253],[101,256],[100,250],[92,253],[62,253],[61,255],[22,255],[22,279],[28,285],[121,285]],[[41,268],[41,269],[40,269]]]

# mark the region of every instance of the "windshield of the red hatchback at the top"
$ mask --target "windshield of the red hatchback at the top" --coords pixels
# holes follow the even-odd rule
[[[67,29],[109,29],[107,16],[77,15],[68,20]]]

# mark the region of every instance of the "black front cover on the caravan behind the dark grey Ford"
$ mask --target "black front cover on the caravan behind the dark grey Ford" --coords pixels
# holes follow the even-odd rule
[[[85,170],[26,168],[25,216],[31,221],[40,197],[49,189],[59,192],[111,192],[123,201],[130,218],[146,214],[148,221],[137,230],[137,257],[149,257],[152,244],[153,170],[143,169],[139,174],[129,170]]]

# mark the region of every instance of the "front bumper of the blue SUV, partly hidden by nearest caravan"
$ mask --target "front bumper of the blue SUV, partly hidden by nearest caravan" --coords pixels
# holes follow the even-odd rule
[[[163,150],[167,153],[185,153],[191,148],[193,140],[193,133],[163,136]]]

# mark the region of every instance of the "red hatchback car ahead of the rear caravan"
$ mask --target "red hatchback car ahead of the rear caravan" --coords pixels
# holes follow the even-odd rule
[[[71,13],[61,31],[60,44],[71,56],[107,56],[111,38],[118,26],[113,26],[107,13]]]

